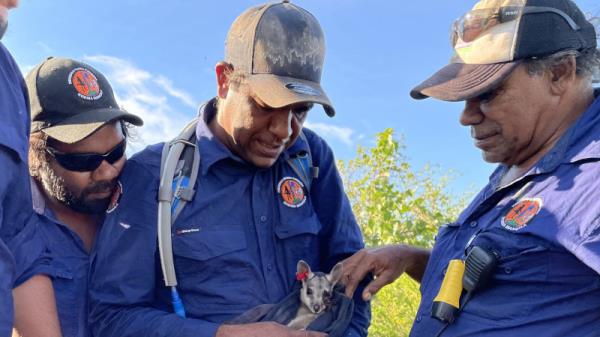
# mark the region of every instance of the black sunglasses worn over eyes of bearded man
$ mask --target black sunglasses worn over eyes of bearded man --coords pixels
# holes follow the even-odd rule
[[[46,148],[46,152],[54,157],[60,166],[69,171],[88,172],[95,169],[106,160],[109,164],[114,164],[125,154],[127,142],[123,139],[117,146],[105,154],[98,153],[64,153],[51,147]]]

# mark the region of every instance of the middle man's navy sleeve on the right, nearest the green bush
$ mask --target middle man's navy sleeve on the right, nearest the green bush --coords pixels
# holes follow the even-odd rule
[[[342,179],[335,166],[333,152],[329,146],[310,131],[306,131],[314,165],[319,167],[319,176],[311,188],[311,198],[319,221],[325,228],[321,241],[327,270],[337,262],[349,257],[364,247],[362,233],[352,213],[350,201],[344,192]],[[367,336],[371,321],[371,306],[362,300],[361,293],[368,283],[365,279],[354,293],[354,314],[344,336]]]

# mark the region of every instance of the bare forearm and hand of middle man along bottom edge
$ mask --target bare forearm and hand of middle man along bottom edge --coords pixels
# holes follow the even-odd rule
[[[215,337],[327,337],[316,331],[293,330],[274,322],[259,322],[239,325],[221,325]]]

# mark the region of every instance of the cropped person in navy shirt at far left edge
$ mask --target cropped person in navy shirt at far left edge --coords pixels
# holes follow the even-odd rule
[[[0,39],[8,26],[8,11],[17,4],[17,0],[0,0]],[[13,323],[24,336],[60,336],[52,284],[46,276],[38,275],[49,260],[38,233],[39,219],[31,208],[28,131],[23,77],[0,43],[1,337],[11,335]]]

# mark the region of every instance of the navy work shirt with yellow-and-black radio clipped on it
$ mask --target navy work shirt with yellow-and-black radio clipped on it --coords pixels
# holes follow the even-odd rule
[[[434,336],[433,299],[451,259],[480,246],[499,257],[491,281],[442,336],[600,335],[600,99],[527,174],[500,166],[455,223],[442,226],[410,336]]]

